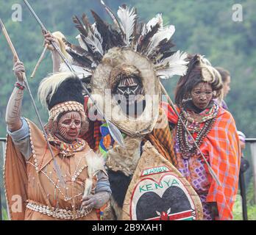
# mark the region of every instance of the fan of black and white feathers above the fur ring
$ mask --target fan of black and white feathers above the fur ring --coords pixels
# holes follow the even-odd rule
[[[154,64],[154,70],[161,79],[171,76],[184,76],[187,71],[187,54],[181,51],[171,51],[174,44],[171,37],[174,35],[173,25],[163,26],[161,14],[157,14],[147,24],[138,23],[138,14],[135,8],[122,5],[117,16],[101,1],[113,24],[107,24],[91,10],[94,24],[90,24],[87,15],[83,14],[80,20],[74,16],[73,21],[79,29],[77,36],[79,46],[65,40],[66,50],[82,68],[84,78],[91,78],[95,68],[102,62],[110,48],[130,48],[141,56],[148,58]],[[62,69],[65,71],[65,65]]]

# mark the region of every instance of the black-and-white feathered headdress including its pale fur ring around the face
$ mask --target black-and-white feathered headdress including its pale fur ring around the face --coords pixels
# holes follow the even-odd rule
[[[129,136],[148,134],[157,123],[159,114],[159,79],[168,79],[174,75],[184,76],[188,64],[187,54],[171,50],[174,47],[171,37],[175,27],[163,26],[161,14],[143,24],[138,23],[135,8],[122,5],[115,15],[104,1],[101,2],[113,24],[104,22],[93,10],[93,24],[90,24],[85,14],[81,19],[74,16],[74,23],[80,32],[77,36],[79,46],[64,40],[66,50],[77,65],[79,77],[82,75],[83,82],[90,84],[94,97],[102,96],[101,101],[96,98],[99,101],[97,104],[102,110],[106,104],[111,106],[111,110],[115,110],[111,113],[105,110],[106,117]],[[61,68],[63,71],[68,69],[65,66]],[[139,74],[145,95],[143,98],[146,95],[154,97],[153,102],[146,101],[143,113],[135,120],[127,117],[113,95],[113,87],[118,83],[118,71],[124,70],[131,71],[131,77],[135,75],[133,73]],[[108,89],[111,90],[111,95],[103,97]]]

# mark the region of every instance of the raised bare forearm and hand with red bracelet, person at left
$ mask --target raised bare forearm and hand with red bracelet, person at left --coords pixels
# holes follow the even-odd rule
[[[6,123],[9,131],[18,131],[21,129],[21,105],[24,96],[24,79],[22,73],[25,73],[23,62],[15,62],[13,71],[17,78],[13,93],[7,104]]]

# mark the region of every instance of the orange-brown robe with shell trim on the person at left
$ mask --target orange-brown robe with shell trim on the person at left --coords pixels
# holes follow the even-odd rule
[[[86,158],[96,154],[85,145],[85,148],[75,152],[74,156],[61,157],[60,151],[51,146],[54,158],[63,173],[65,185],[61,185],[42,132],[34,123],[29,120],[27,122],[32,145],[32,156],[28,162],[15,147],[12,139],[7,138],[4,184],[11,220],[61,220],[60,217],[29,209],[28,203],[71,211],[70,220],[98,220],[95,209],[85,216],[75,218],[76,210],[79,210],[82,204],[85,180],[89,177]],[[96,176],[92,180],[90,192],[93,194]]]

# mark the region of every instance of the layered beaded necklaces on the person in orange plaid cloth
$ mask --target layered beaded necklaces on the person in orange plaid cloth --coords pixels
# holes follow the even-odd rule
[[[213,104],[213,107],[204,114],[196,114],[193,111],[182,109],[180,117],[185,123],[188,131],[190,131],[191,134],[197,134],[195,141],[199,147],[213,128],[213,124],[216,122],[216,117],[218,115],[218,109],[218,104]],[[202,123],[204,126],[202,126]],[[188,158],[191,154],[196,153],[196,145],[194,145],[191,137],[188,136],[188,133],[180,120],[178,120],[177,123],[177,142],[184,158]]]

